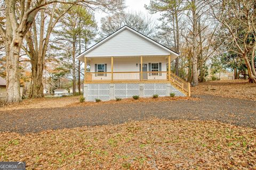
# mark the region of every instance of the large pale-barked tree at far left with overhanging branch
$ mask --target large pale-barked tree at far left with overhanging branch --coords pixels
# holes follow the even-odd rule
[[[123,7],[123,1],[64,1],[64,0],[8,0],[3,2],[5,22],[0,23],[0,35],[6,52],[6,101],[18,102],[20,98],[19,56],[22,41],[35,21],[39,10],[52,3],[82,4],[88,7],[115,9]]]

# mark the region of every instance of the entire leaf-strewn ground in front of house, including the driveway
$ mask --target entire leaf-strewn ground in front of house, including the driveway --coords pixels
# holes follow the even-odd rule
[[[79,103],[76,96],[4,105],[0,162],[25,161],[27,169],[256,169],[255,85],[212,81],[191,91],[191,98]]]

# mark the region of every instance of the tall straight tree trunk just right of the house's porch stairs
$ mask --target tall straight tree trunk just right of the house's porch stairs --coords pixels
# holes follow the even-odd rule
[[[198,84],[197,74],[197,14],[196,14],[196,1],[192,0],[192,13],[193,13],[193,82],[194,86]]]

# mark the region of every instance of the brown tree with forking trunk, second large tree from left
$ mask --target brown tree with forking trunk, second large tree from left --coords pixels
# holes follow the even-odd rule
[[[41,10],[40,15],[38,16],[39,22],[39,37],[38,37],[38,28],[36,22],[33,23],[33,27],[27,32],[25,36],[26,46],[22,46],[22,49],[25,50],[28,57],[30,58],[31,63],[31,83],[29,90],[30,98],[41,98],[43,94],[43,71],[45,65],[45,55],[48,49],[48,44],[52,30],[56,23],[59,21],[61,16],[65,14],[73,5],[70,5],[66,10],[56,14],[57,3],[49,5],[50,14],[48,15],[45,10]],[[46,15],[45,15],[46,13]],[[45,23],[47,16],[50,17],[49,22]],[[46,30],[46,35],[44,36]]]

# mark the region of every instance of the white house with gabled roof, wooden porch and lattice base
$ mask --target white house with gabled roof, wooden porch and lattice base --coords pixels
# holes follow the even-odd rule
[[[170,69],[173,50],[124,26],[77,56],[85,67],[87,101],[115,98],[190,96],[190,84]]]

